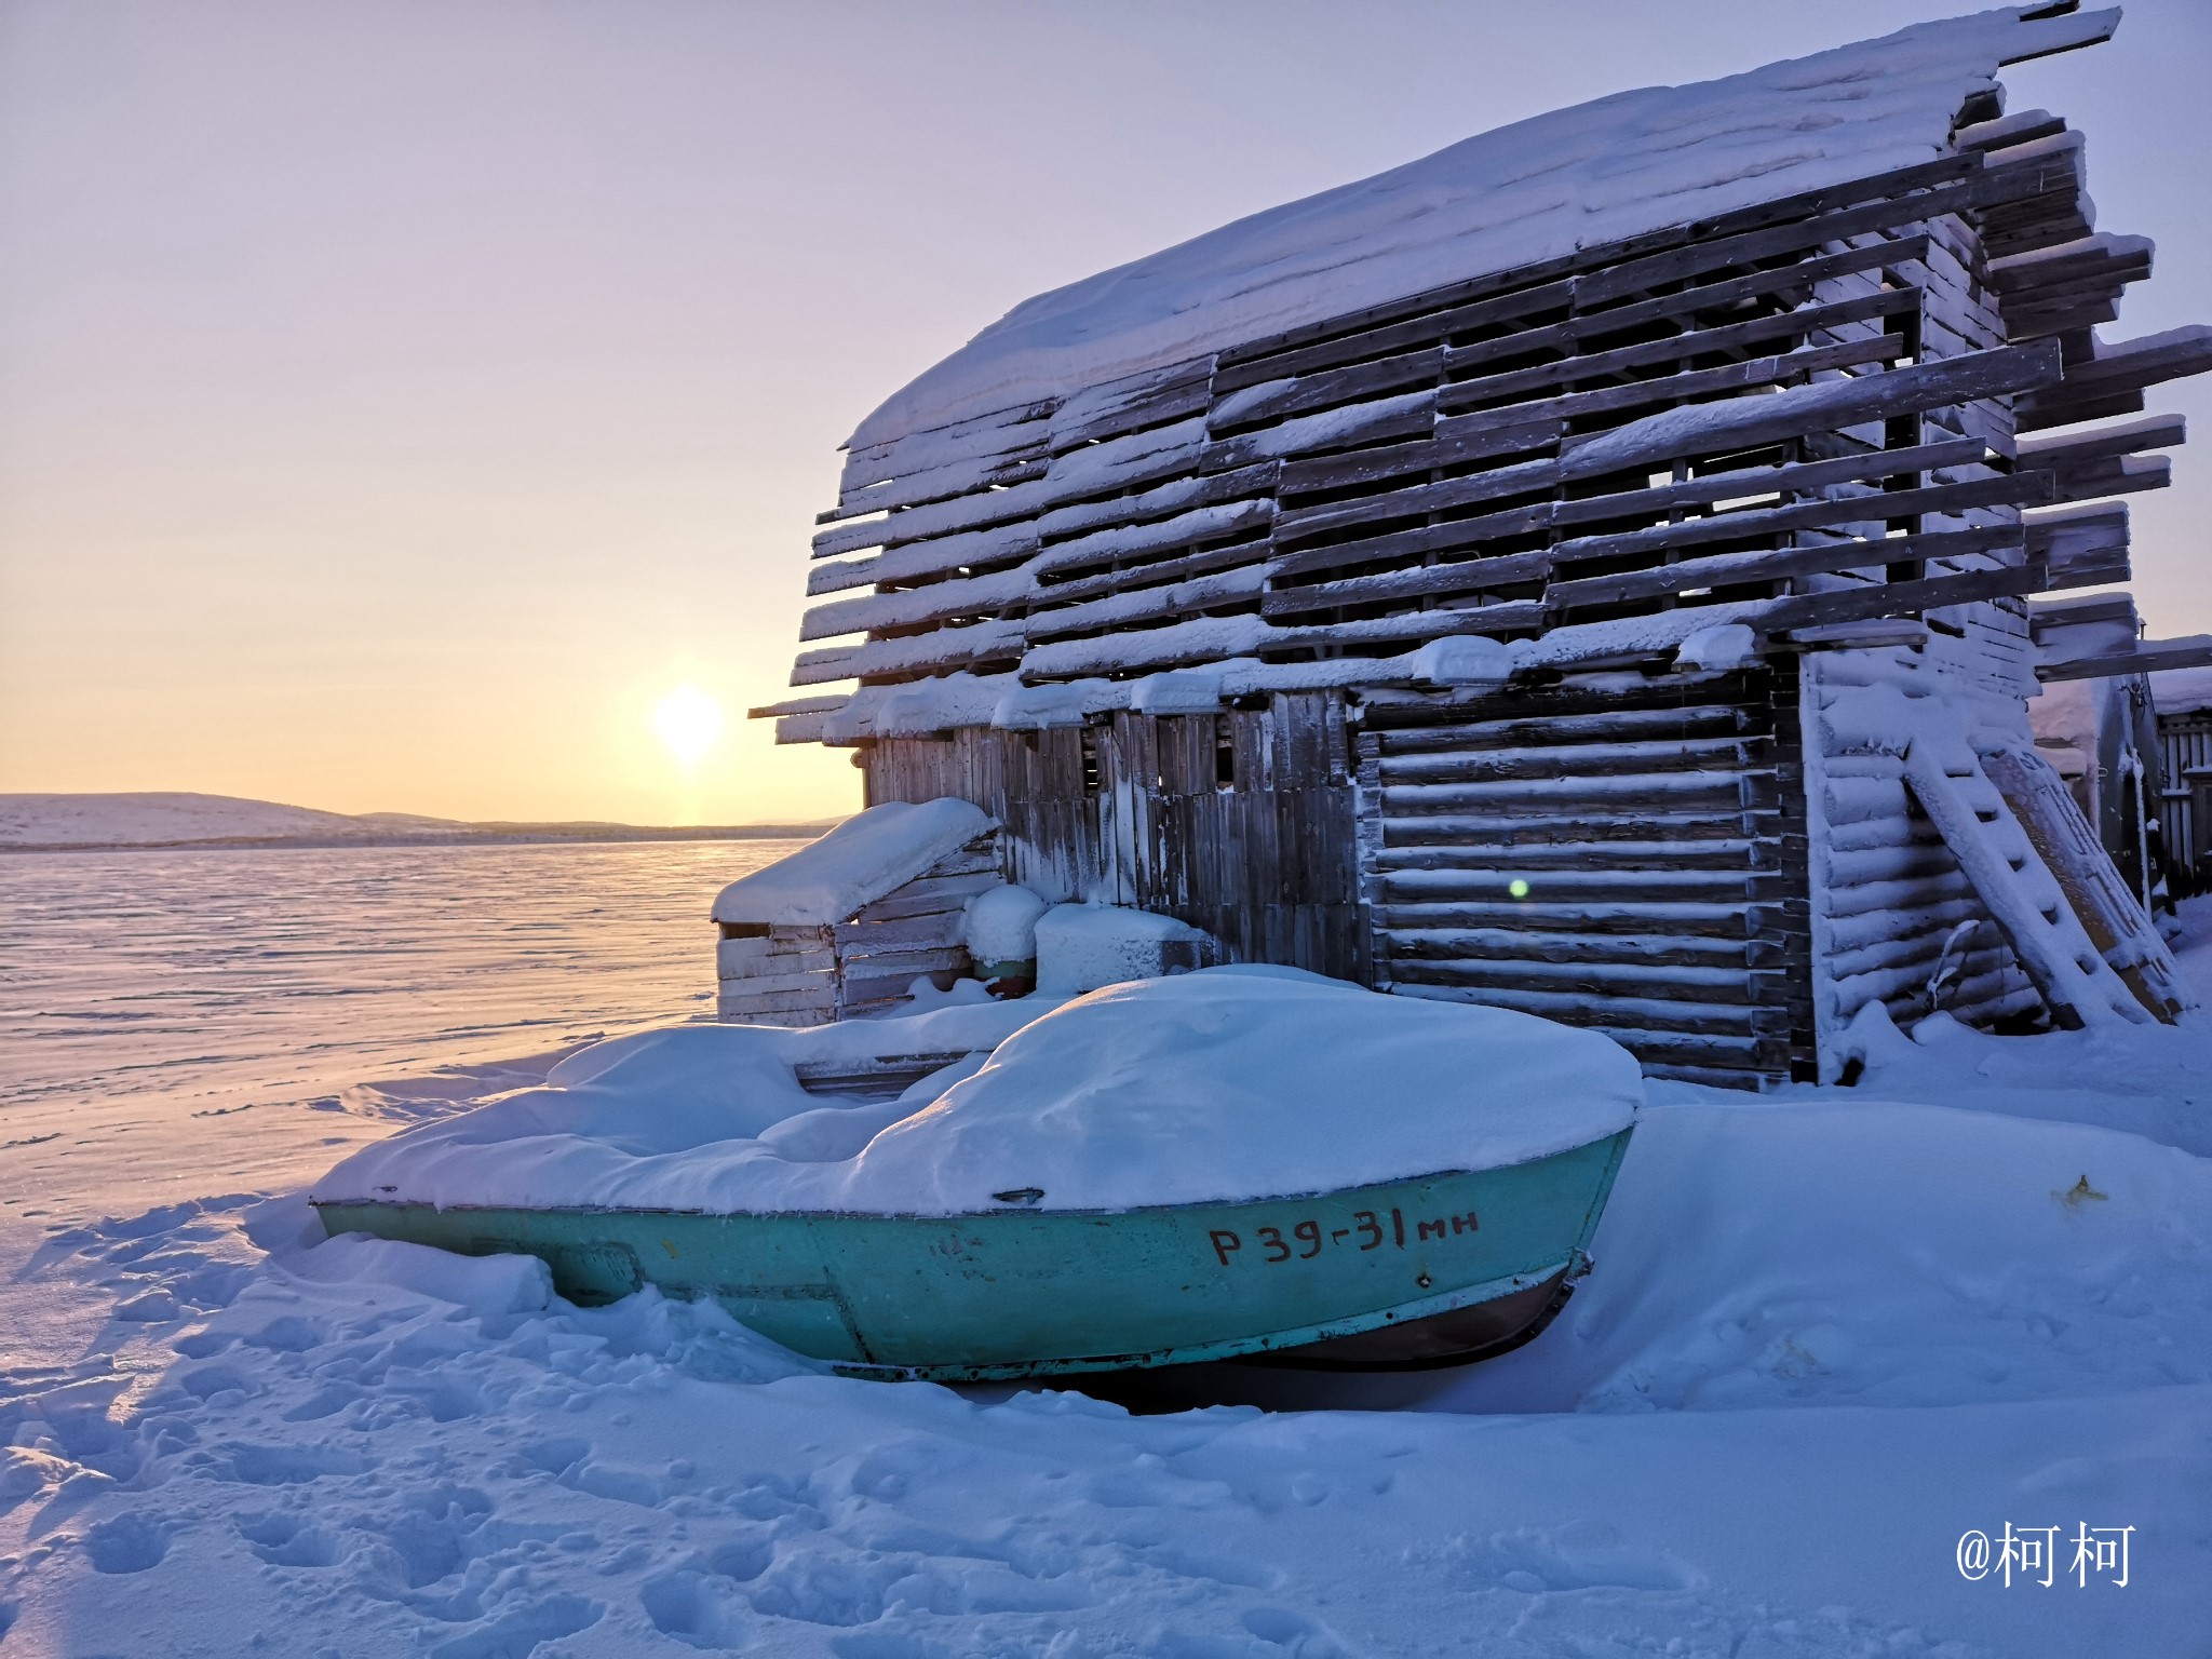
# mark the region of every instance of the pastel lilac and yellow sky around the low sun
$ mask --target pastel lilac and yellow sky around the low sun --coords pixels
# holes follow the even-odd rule
[[[1778,0],[13,0],[0,790],[785,821],[812,515],[1020,299],[1469,133],[1966,9]],[[2008,71],[2212,321],[2212,7]],[[2154,409],[2212,411],[2166,387]],[[2212,434],[2212,427],[2203,427]],[[2212,460],[2135,498],[2212,630]],[[653,732],[732,714],[695,772]]]

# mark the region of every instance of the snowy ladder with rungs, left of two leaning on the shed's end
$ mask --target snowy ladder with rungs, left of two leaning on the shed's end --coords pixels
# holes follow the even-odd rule
[[[2150,1020],[2090,942],[2004,792],[1962,737],[1916,732],[1905,752],[1905,781],[2059,1026],[2077,1031]]]

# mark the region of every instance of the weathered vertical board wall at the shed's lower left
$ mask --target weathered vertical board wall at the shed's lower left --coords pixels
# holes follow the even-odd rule
[[[863,754],[869,805],[973,801],[1004,825],[1006,880],[1044,898],[1175,916],[1232,962],[1367,978],[1340,692],[1042,732],[962,728]]]

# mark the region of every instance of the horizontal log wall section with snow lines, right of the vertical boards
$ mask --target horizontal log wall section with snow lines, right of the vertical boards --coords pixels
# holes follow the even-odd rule
[[[1809,1077],[1796,675],[1371,701],[1374,978],[1593,1026],[1657,1075]]]

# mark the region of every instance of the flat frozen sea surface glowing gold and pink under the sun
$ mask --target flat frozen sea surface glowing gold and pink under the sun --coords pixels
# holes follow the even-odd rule
[[[276,1106],[712,1013],[714,891],[796,845],[0,858],[0,1102]]]

